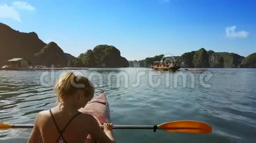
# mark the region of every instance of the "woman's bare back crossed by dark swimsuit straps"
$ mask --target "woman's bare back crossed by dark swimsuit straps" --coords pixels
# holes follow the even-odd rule
[[[64,113],[53,108],[41,113],[41,125],[39,125],[44,143],[84,143],[89,133],[91,115],[76,113]],[[79,138],[80,137],[80,138]],[[57,142],[59,141],[59,142]],[[63,141],[63,142],[61,142]]]

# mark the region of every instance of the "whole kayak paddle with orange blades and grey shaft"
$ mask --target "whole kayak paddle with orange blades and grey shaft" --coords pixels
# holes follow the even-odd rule
[[[9,125],[0,123],[0,130],[5,129],[28,129],[34,125]],[[103,128],[103,125],[100,125]],[[113,125],[112,129],[162,129],[166,132],[185,132],[185,133],[211,133],[211,126],[203,122],[181,120],[166,122],[160,125]]]

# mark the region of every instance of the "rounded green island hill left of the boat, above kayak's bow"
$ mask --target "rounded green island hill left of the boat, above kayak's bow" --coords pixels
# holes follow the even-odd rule
[[[129,66],[126,58],[120,56],[120,51],[109,45],[98,45],[93,50],[80,54],[78,59],[85,67],[121,68]]]

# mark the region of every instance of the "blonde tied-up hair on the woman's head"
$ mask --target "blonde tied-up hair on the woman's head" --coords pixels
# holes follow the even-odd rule
[[[72,72],[62,76],[54,90],[60,104],[63,104],[66,97],[74,95],[79,90],[83,90],[85,96],[94,95],[94,87],[90,80],[83,76],[75,76]]]

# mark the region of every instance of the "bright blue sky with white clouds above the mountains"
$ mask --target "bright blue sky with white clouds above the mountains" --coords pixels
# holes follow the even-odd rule
[[[205,48],[256,52],[256,0],[0,0],[0,22],[75,57],[100,44],[128,60]]]

